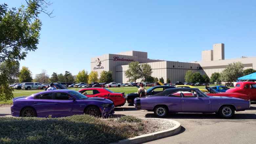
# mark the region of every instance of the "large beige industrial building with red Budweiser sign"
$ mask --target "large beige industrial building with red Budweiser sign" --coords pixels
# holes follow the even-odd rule
[[[184,81],[184,76],[187,70],[200,72],[202,75],[208,75],[214,72],[222,72],[228,63],[241,62],[245,69],[256,69],[255,58],[238,58],[225,60],[224,44],[214,44],[213,50],[202,51],[202,61],[200,62],[174,62],[163,60],[148,59],[147,52],[128,51],[117,54],[105,54],[95,58],[91,58],[91,70],[97,71],[98,75],[105,71],[112,71],[115,82],[126,83],[128,78],[125,77],[125,71],[128,69],[128,64],[133,61],[139,63],[148,63],[152,68],[152,77],[160,79],[163,77],[174,81]],[[140,81],[140,80],[138,80]]]

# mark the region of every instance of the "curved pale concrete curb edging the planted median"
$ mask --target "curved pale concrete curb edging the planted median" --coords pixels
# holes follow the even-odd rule
[[[132,144],[139,144],[139,143],[144,143],[144,142],[152,141],[152,140],[155,140],[155,139],[175,135],[175,134],[177,134],[181,131],[181,123],[179,123],[178,121],[175,121],[175,120],[163,119],[163,118],[142,118],[142,119],[167,120],[167,121],[170,121],[170,122],[174,123],[175,126],[173,128],[168,129],[168,130],[159,131],[159,132],[146,134],[146,135],[139,135],[139,136],[135,136],[135,137],[132,137],[132,138],[120,140],[116,143],[110,143],[110,144],[131,144],[131,143]]]

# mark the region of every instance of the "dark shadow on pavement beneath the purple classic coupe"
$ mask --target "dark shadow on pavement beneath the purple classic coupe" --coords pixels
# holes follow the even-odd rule
[[[145,117],[156,117],[154,114],[146,114]],[[171,119],[224,119],[219,117],[217,114],[192,114],[192,113],[177,113],[177,114],[170,114],[164,118],[171,118]],[[256,114],[235,114],[235,116],[231,119],[256,119]]]

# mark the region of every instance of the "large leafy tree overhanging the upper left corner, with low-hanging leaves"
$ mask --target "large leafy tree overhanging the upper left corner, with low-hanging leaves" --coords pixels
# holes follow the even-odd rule
[[[29,51],[35,51],[39,42],[41,12],[48,14],[50,5],[45,0],[26,0],[27,6],[9,9],[7,4],[0,5],[0,63],[24,60]],[[8,70],[0,72],[0,100],[6,101],[13,97],[8,86]],[[22,79],[23,81],[24,79]]]

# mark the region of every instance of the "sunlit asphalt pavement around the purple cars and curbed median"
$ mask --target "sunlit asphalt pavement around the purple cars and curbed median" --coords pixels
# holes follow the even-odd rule
[[[114,117],[132,115],[155,117],[153,112],[136,110],[125,104],[115,108]],[[0,107],[0,117],[11,117],[10,107]],[[166,118],[179,121],[182,129],[178,135],[148,142],[148,144],[255,144],[256,103],[249,110],[236,112],[233,119],[222,119],[216,114],[170,114]]]

